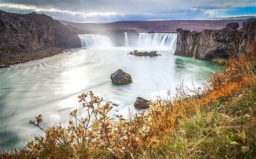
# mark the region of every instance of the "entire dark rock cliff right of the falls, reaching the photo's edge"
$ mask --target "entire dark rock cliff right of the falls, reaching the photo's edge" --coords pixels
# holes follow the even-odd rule
[[[222,30],[191,32],[177,30],[177,48],[174,55],[195,57],[202,60],[227,58],[244,52],[255,41],[256,19],[247,19],[242,30],[238,23],[227,24]]]

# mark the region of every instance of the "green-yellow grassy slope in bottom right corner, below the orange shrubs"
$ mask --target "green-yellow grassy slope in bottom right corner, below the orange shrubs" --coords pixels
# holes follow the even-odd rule
[[[255,89],[255,85],[237,89],[180,118],[163,148],[138,158],[256,156]]]

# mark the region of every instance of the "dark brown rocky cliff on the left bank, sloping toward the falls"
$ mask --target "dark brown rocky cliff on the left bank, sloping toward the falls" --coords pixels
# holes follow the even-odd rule
[[[0,10],[0,64],[14,64],[80,47],[76,32],[44,14]]]

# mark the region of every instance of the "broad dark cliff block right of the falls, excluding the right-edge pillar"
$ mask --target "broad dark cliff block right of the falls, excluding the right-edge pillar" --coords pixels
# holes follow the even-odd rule
[[[228,24],[223,30],[190,32],[177,30],[177,48],[174,55],[212,60],[226,58],[238,51],[241,33],[238,23]]]

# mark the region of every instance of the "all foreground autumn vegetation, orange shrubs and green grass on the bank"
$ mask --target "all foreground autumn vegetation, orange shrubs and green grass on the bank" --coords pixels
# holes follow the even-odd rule
[[[183,85],[167,99],[151,101],[147,111],[118,116],[92,91],[78,96],[77,110],[64,127],[43,129],[42,115],[29,123],[44,131],[21,150],[2,158],[253,158],[256,156],[256,45],[232,57],[201,88]],[[193,95],[188,95],[192,91]]]

